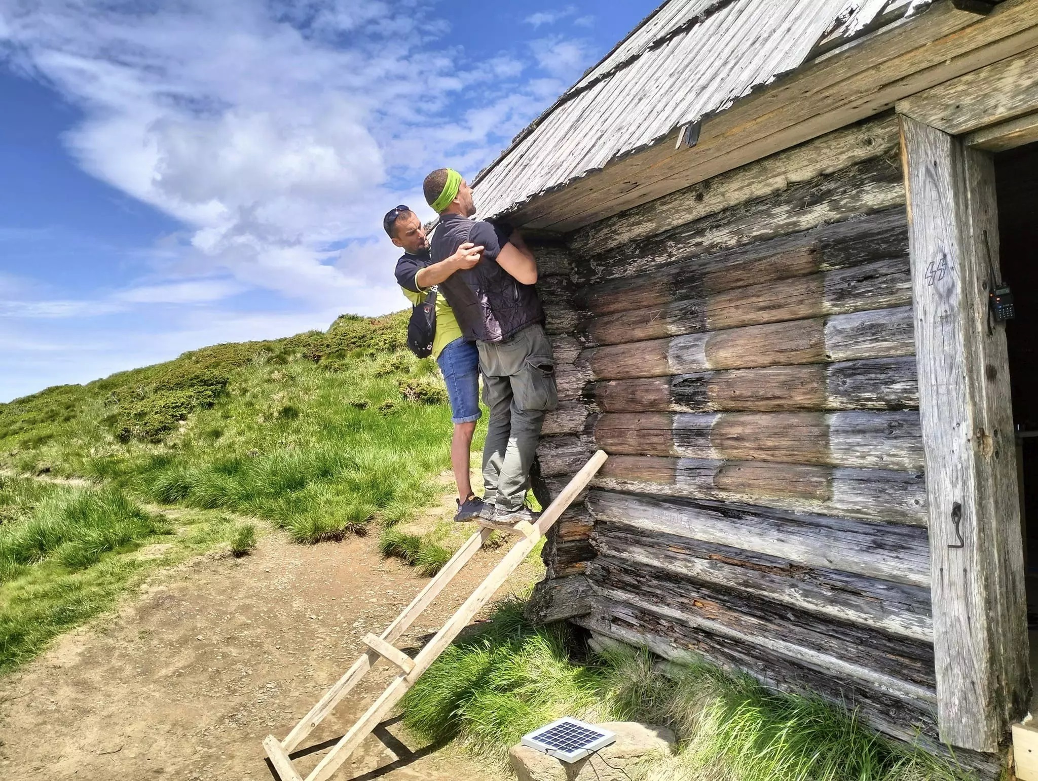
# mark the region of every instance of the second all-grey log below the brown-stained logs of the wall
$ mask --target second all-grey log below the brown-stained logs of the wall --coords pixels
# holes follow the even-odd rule
[[[804,566],[768,554],[606,521],[595,524],[591,545],[600,557],[589,563],[592,577],[597,577],[601,557],[612,557],[639,569],[655,567],[759,599],[933,642],[930,591],[923,586]]]

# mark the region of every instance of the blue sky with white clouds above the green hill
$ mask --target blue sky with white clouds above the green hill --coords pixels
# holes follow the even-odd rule
[[[381,214],[655,5],[0,0],[0,401],[401,308]]]

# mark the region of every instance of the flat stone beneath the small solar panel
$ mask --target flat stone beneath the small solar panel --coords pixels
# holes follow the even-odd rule
[[[628,781],[624,773],[641,760],[674,754],[674,732],[666,727],[625,721],[597,726],[616,732],[617,742],[572,764],[520,744],[509,751],[512,771],[519,781]]]

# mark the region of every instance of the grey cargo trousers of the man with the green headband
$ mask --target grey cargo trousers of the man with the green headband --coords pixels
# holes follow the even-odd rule
[[[484,501],[506,510],[522,506],[544,414],[558,405],[555,359],[541,325],[504,341],[476,342],[483,400],[490,408],[483,448]]]

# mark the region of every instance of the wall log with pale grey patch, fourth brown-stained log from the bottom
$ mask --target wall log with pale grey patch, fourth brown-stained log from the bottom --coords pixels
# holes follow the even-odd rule
[[[598,380],[913,355],[911,307],[746,326],[584,351]]]

